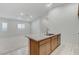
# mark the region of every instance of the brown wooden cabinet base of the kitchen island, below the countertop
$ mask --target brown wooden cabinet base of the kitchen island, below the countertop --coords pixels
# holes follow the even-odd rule
[[[30,38],[30,55],[48,55],[60,45],[60,34],[36,41]]]

